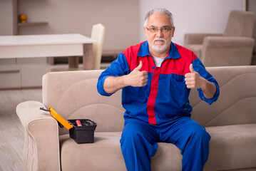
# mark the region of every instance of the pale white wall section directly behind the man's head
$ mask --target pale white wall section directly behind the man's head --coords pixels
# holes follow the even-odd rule
[[[173,14],[173,42],[183,45],[185,33],[223,33],[230,11],[243,10],[244,0],[140,0],[140,41],[145,40],[145,14],[155,7],[168,9]]]

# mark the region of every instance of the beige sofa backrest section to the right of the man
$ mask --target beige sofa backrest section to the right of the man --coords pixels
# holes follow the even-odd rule
[[[220,86],[212,105],[191,90],[192,118],[204,126],[256,123],[256,66],[208,67]]]

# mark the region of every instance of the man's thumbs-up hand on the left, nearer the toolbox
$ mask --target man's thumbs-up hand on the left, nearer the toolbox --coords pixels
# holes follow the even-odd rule
[[[148,72],[140,71],[142,66],[143,66],[143,63],[142,63],[142,61],[140,61],[140,64],[136,68],[134,68],[134,70],[131,73],[129,73],[126,76],[125,81],[129,86],[143,87],[143,86],[147,85]]]

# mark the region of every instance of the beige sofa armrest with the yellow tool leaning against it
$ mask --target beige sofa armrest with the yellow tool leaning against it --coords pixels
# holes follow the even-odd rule
[[[24,127],[24,162],[26,170],[61,170],[58,123],[39,108],[43,103],[27,101],[16,107]]]

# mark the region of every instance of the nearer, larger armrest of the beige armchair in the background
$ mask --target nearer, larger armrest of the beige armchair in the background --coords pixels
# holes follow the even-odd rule
[[[250,66],[255,40],[247,37],[204,38],[201,60],[205,66]]]

